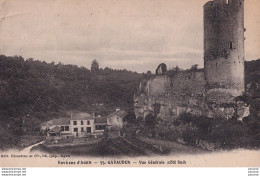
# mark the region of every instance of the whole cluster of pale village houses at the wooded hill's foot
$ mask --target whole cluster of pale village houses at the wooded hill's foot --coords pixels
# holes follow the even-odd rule
[[[62,117],[52,119],[41,124],[41,132],[48,137],[75,136],[90,137],[102,136],[105,129],[120,130],[123,128],[124,118],[128,115],[124,110],[116,109],[107,117],[95,116],[86,112],[71,115],[71,118]]]

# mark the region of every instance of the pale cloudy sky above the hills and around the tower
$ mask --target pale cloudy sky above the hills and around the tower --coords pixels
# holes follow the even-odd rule
[[[0,54],[155,72],[203,67],[208,0],[0,0]],[[260,1],[245,0],[246,60],[260,58]]]

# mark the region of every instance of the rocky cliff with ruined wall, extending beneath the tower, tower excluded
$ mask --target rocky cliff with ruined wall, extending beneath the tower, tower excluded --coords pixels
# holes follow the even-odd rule
[[[134,96],[137,118],[153,114],[161,119],[174,119],[181,113],[222,118],[243,119],[249,115],[249,106],[228,92],[211,93],[208,100],[203,70],[181,71],[171,76],[156,75],[142,80]],[[214,97],[214,98],[212,98]]]

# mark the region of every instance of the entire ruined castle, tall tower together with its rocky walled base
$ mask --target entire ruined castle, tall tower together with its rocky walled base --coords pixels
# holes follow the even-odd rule
[[[249,115],[244,102],[244,1],[213,0],[204,5],[204,69],[162,72],[141,81],[135,114],[167,120],[183,112],[210,118]],[[160,68],[164,66],[164,68]],[[160,72],[159,72],[159,71]]]

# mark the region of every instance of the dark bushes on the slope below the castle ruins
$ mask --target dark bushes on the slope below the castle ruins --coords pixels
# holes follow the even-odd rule
[[[260,144],[260,128],[254,119],[243,123],[185,113],[167,127],[160,131],[163,133],[160,136],[166,136],[170,140],[181,138],[189,144],[207,141],[224,149],[253,148],[259,147]]]

